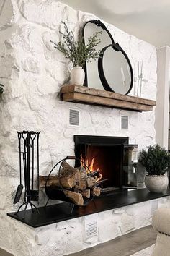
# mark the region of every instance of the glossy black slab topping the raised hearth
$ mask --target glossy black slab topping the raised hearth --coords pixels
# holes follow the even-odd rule
[[[72,213],[71,205],[68,202],[63,202],[56,205],[49,205],[46,208],[38,208],[40,214],[38,214],[36,210],[34,210],[34,213],[32,213],[31,210],[26,210],[24,218],[24,211],[20,211],[18,215],[16,215],[16,213],[7,213],[7,216],[15,218],[17,221],[21,221],[22,223],[32,226],[33,228],[37,228],[61,221],[67,221],[71,218],[79,218],[93,213],[100,213],[104,210],[112,210],[169,195],[169,189],[160,194],[151,193],[148,191],[148,189],[137,189],[127,193],[121,192],[96,198],[89,202],[89,205],[75,206]]]

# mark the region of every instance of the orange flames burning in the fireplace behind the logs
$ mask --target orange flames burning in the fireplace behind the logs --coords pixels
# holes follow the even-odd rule
[[[86,169],[87,174],[88,173],[93,174],[97,179],[96,182],[99,182],[99,180],[102,179],[102,174],[100,173],[99,168],[94,168],[94,161],[95,161],[95,158],[92,158],[91,163],[89,163],[89,159],[88,158],[84,159],[83,156],[81,155],[81,167],[84,167]]]

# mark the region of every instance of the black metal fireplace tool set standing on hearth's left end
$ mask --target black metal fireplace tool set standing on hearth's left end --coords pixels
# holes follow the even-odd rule
[[[19,142],[19,178],[20,184],[14,197],[14,204],[19,202],[24,189],[24,202],[19,206],[17,213],[24,206],[24,211],[30,205],[39,213],[32,201],[39,200],[39,135],[40,132],[23,131],[17,132]],[[36,168],[35,168],[36,167]],[[24,179],[24,185],[22,184]]]

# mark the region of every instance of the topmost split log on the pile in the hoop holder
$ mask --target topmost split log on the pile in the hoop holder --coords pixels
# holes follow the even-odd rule
[[[61,166],[63,167],[63,170],[61,170],[61,176],[72,176],[76,182],[79,182],[81,180],[81,172],[79,171],[79,169],[73,168],[66,161],[63,161],[63,163],[61,163]]]

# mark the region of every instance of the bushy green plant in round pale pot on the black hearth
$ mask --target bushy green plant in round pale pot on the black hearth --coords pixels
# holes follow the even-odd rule
[[[166,172],[170,166],[170,155],[158,144],[140,151],[138,161],[146,168],[146,187],[151,192],[161,193],[167,188],[169,179]]]

